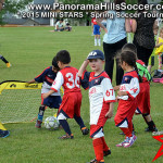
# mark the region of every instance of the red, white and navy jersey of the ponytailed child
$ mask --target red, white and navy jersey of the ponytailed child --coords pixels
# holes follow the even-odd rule
[[[133,100],[140,91],[139,79],[136,71],[127,72],[124,74],[120,91],[127,91],[127,96],[117,97],[122,100]]]

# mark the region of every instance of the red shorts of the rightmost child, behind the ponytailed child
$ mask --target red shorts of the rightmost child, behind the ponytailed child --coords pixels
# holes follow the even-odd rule
[[[149,82],[140,83],[140,92],[137,96],[138,111],[141,114],[150,114],[150,85]]]

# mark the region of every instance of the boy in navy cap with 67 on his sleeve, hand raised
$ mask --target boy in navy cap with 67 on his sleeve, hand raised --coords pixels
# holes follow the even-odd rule
[[[92,72],[86,72],[89,64]],[[82,86],[89,88],[90,101],[90,137],[96,158],[89,163],[104,163],[103,156],[111,154],[111,150],[104,140],[103,126],[108,118],[113,116],[113,102],[115,93],[111,79],[103,71],[104,54],[100,50],[89,53],[86,61],[79,68]]]

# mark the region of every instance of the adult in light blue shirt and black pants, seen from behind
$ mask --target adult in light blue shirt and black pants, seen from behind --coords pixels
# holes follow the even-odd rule
[[[114,0],[115,5],[125,2],[125,0]],[[103,51],[105,57],[104,71],[110,78],[113,78],[114,57],[122,47],[127,43],[126,33],[131,32],[130,23],[128,18],[116,17],[116,13],[121,10],[108,11],[109,14],[114,14],[114,18],[106,20],[106,28],[98,21],[98,24],[104,29],[105,35],[103,37]],[[116,59],[116,85],[120,85],[124,75],[124,71],[118,64]]]

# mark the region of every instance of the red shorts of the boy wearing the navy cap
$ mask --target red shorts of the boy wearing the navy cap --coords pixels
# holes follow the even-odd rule
[[[90,138],[93,138],[93,136],[99,131],[101,133],[101,130],[103,133],[103,126],[108,120],[108,117],[105,117],[105,114],[108,113],[109,109],[110,103],[103,103],[97,125],[90,125]]]

